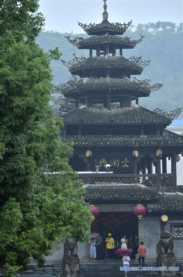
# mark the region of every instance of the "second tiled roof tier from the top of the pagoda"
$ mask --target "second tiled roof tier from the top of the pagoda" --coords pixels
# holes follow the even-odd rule
[[[78,48],[83,46],[91,46],[91,45],[97,45],[101,43],[115,43],[120,44],[123,46],[123,48],[133,48],[136,46],[135,40],[130,40],[128,37],[119,37],[119,36],[113,36],[113,35],[98,35],[98,36],[92,36],[90,38],[85,38],[78,42],[76,46]]]

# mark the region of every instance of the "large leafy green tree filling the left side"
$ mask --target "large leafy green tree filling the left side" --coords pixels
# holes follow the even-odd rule
[[[30,257],[44,263],[53,242],[88,238],[83,187],[67,163],[72,145],[49,107],[50,58],[35,38],[44,20],[37,0],[0,2],[0,268],[12,275]],[[61,174],[44,172],[59,171]]]

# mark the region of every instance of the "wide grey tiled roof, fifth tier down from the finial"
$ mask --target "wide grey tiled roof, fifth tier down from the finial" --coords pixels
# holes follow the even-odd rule
[[[121,107],[108,110],[107,108],[88,108],[81,106],[66,114],[63,114],[64,124],[86,124],[86,125],[121,125],[121,124],[170,124],[171,120],[133,104],[131,107]]]

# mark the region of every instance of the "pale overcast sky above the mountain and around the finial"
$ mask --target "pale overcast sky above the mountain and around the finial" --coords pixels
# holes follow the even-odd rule
[[[182,0],[108,0],[109,22],[133,25],[157,21],[169,21],[179,25],[183,18]],[[102,0],[40,0],[40,11],[46,18],[46,30],[84,33],[81,23],[102,21]]]

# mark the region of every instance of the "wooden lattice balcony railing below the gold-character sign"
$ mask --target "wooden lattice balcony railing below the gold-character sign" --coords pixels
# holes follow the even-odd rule
[[[147,187],[160,187],[161,184],[165,187],[173,188],[173,174],[161,174],[160,183],[157,185],[157,174],[138,174],[138,175],[122,175],[122,174],[79,174],[79,179],[83,183],[139,183]]]

